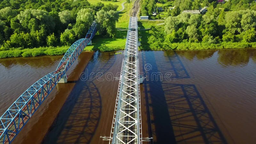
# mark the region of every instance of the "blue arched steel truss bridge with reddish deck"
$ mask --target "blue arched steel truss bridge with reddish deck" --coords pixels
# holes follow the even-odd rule
[[[83,52],[97,32],[93,22],[85,38],[72,44],[60,61],[57,69],[39,79],[28,88],[0,117],[0,143],[8,144],[17,136],[31,116],[36,112],[52,89],[58,84],[68,68]]]

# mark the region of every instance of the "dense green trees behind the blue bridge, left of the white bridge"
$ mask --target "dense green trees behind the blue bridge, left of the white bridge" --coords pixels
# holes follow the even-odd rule
[[[86,35],[93,20],[101,36],[113,37],[117,7],[87,0],[3,0],[0,50],[71,45]]]

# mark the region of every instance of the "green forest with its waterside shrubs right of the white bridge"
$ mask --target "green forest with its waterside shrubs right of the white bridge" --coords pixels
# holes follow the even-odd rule
[[[156,7],[150,4],[153,4],[151,1],[143,0],[142,4],[147,3],[144,4],[147,7],[142,5],[142,14]],[[256,47],[256,2],[253,0],[229,0],[225,4],[209,0],[175,0],[168,4],[175,8],[167,10],[164,25],[152,26],[149,31],[151,50]],[[181,13],[205,6],[205,14]]]

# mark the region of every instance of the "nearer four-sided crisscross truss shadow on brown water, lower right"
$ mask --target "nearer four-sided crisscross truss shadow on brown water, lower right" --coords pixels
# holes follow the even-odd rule
[[[162,85],[175,143],[227,143],[194,84]]]

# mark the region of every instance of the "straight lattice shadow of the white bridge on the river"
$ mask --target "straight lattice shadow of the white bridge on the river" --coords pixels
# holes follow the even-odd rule
[[[152,69],[144,71],[148,76],[156,72],[162,75],[171,72],[172,78],[190,78],[174,51],[143,52],[143,67],[147,63],[152,65]],[[151,119],[148,127],[153,136],[151,143],[227,143],[195,84],[160,80],[161,75],[156,78],[151,77],[144,82],[147,115]]]

